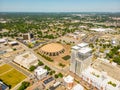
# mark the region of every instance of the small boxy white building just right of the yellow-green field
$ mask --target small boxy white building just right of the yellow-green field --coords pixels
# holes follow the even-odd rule
[[[47,70],[41,67],[37,67],[37,69],[34,71],[34,75],[38,80],[41,80],[47,76]]]

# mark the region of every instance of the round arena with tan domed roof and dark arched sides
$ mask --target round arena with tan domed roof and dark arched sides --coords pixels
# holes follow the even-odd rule
[[[40,53],[48,56],[58,56],[64,52],[64,47],[59,43],[49,43],[40,48]]]

